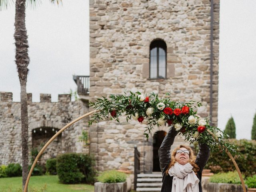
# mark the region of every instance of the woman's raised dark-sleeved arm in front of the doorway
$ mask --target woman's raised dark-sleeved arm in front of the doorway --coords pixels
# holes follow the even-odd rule
[[[168,133],[166,134],[159,150],[158,150],[158,156],[159,156],[159,162],[160,162],[160,169],[163,173],[164,168],[170,163],[171,159],[171,146],[174,142],[175,136],[178,134],[178,132],[172,127]]]

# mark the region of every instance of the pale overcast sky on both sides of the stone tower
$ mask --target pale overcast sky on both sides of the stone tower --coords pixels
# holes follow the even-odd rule
[[[89,73],[89,1],[63,0],[63,6],[44,1],[27,9],[30,64],[27,92],[33,102],[40,93],[76,90],[72,75]],[[0,91],[20,101],[14,46],[14,5],[0,12]],[[256,0],[220,1],[220,60],[218,127],[232,115],[236,138],[250,139],[256,113]]]

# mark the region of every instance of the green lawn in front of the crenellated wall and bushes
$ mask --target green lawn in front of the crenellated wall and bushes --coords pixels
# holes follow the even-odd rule
[[[22,177],[0,178],[0,192],[21,192]],[[94,192],[93,185],[60,184],[58,176],[32,176],[28,192]]]

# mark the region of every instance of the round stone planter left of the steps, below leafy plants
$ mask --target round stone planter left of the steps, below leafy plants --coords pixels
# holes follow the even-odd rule
[[[127,184],[122,183],[94,183],[94,192],[126,192]]]

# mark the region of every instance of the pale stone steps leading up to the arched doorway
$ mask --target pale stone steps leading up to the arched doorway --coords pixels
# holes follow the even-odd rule
[[[152,174],[138,174],[136,191],[160,192],[161,187],[162,187],[161,172],[153,172]]]

